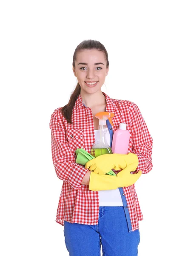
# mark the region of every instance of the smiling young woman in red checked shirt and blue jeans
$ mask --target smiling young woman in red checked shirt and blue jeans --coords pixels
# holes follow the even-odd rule
[[[153,140],[135,103],[111,99],[101,91],[108,66],[108,53],[99,41],[80,43],[73,56],[77,86],[68,104],[51,115],[52,158],[57,177],[63,180],[56,221],[64,226],[70,256],[99,256],[101,244],[104,256],[136,256],[138,252],[138,221],[142,220],[142,212],[134,182],[139,172],[146,174],[152,169]],[[76,163],[77,148],[91,152],[99,121],[95,115],[102,111],[114,113],[114,126],[108,122],[109,145],[121,122],[130,131],[130,161],[138,161],[137,174],[129,173],[131,179],[138,175],[130,186],[125,185],[128,176],[124,176],[124,169],[115,171],[117,176],[121,175],[114,177],[97,174],[91,166],[87,169]],[[119,164],[126,163],[127,157],[121,155]],[[111,161],[117,161],[115,154],[108,163]]]

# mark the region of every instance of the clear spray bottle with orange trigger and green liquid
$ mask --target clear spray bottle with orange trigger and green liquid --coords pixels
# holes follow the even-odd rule
[[[111,118],[114,116],[114,113],[111,112],[99,112],[95,115],[99,119],[98,126],[98,136],[95,139],[94,145],[91,148],[91,155],[98,157],[102,154],[112,154],[110,145],[107,143],[107,125],[106,120],[109,119],[109,122],[113,126]]]

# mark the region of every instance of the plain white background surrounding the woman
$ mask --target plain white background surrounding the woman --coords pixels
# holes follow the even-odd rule
[[[138,255],[185,255],[183,2],[1,1],[2,256],[68,255],[55,222],[63,181],[49,121],[77,84],[72,57],[87,39],[108,51],[102,91],[135,102],[154,139],[154,168],[136,183],[144,216]]]

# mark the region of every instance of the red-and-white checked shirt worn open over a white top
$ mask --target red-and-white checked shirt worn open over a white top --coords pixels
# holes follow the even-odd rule
[[[152,144],[145,121],[137,105],[126,100],[111,99],[105,95],[106,111],[113,112],[113,132],[121,122],[127,124],[130,131],[128,152],[137,154],[139,165],[137,170],[143,174],[152,169]],[[89,153],[95,141],[93,115],[90,108],[85,107],[81,96],[75,102],[72,114],[73,124],[69,124],[57,108],[51,115],[51,148],[52,159],[57,177],[63,180],[57,208],[56,222],[64,226],[64,220],[71,223],[98,224],[99,198],[98,191],[89,190],[82,185],[88,169],[75,162],[75,150],[83,148]],[[117,172],[115,172],[117,174]],[[124,195],[131,220],[131,230],[139,229],[138,221],[142,220],[135,186],[124,187]]]

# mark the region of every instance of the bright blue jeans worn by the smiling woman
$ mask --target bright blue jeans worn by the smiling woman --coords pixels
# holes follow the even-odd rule
[[[70,256],[137,256],[139,230],[128,232],[122,206],[100,206],[97,225],[64,221],[65,245]]]

